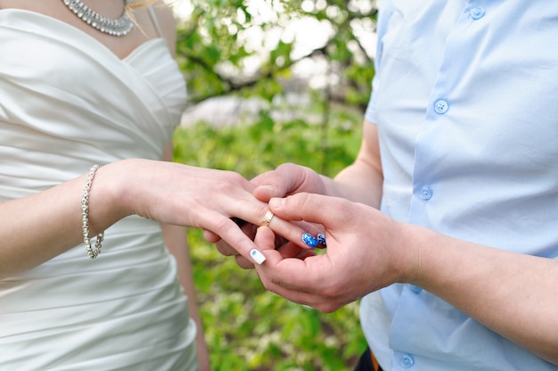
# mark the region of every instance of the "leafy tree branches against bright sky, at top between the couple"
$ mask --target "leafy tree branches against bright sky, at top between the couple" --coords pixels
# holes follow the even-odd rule
[[[325,62],[336,77],[334,98],[364,108],[373,77],[371,51],[374,0],[183,0],[192,12],[178,22],[176,55],[188,81],[191,102],[216,95],[258,95],[269,102],[283,93],[278,81],[292,81],[303,60]],[[171,3],[172,4],[172,3]],[[324,45],[293,54],[296,37],[286,31],[297,21],[318,21]],[[357,34],[365,36],[358,37]],[[268,35],[278,37],[268,37]],[[257,40],[260,39],[259,43]],[[250,41],[250,43],[249,43]],[[256,44],[256,45],[254,45]],[[256,70],[247,64],[258,61]],[[355,73],[355,67],[360,66]]]

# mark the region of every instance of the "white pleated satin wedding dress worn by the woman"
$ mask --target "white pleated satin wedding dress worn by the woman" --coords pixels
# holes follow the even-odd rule
[[[120,60],[62,21],[0,10],[0,202],[94,163],[160,159],[184,104],[164,39]],[[0,280],[3,371],[190,370],[194,335],[175,260],[144,218],[109,228],[95,260],[79,245]]]

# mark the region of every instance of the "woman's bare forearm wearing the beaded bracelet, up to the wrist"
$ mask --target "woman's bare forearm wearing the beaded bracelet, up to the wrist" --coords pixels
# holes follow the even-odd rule
[[[86,177],[84,173],[45,192],[0,204],[0,278],[33,268],[83,242],[81,198]],[[118,207],[118,186],[110,178],[111,167],[94,176],[88,212],[91,236],[131,214]]]

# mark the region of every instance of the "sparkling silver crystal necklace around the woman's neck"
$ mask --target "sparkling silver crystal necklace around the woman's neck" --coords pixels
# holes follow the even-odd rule
[[[81,0],[62,0],[70,11],[74,12],[82,21],[89,26],[112,36],[126,36],[134,29],[134,22],[127,16],[126,9],[119,19],[111,19],[95,12]],[[125,0],[128,4],[130,0]]]

